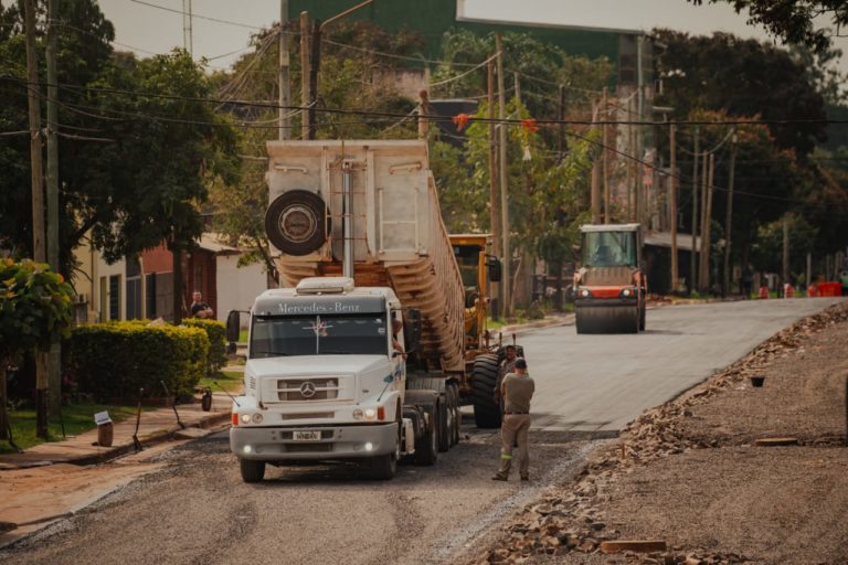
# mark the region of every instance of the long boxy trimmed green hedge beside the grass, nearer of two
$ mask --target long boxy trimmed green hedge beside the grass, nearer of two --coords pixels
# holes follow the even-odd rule
[[[192,394],[206,372],[209,338],[199,328],[150,327],[139,321],[80,326],[67,340],[67,372],[96,398]]]

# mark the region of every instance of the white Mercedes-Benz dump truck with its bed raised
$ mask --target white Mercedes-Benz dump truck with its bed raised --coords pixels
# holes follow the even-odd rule
[[[265,228],[283,288],[251,311],[230,433],[242,478],[297,461],[353,460],[382,479],[404,457],[435,463],[459,441],[475,367],[486,370],[477,390],[494,391],[485,311],[500,265],[486,236],[449,238],[423,141],[267,150]],[[474,273],[460,270],[470,256]],[[237,326],[233,312],[227,332]]]

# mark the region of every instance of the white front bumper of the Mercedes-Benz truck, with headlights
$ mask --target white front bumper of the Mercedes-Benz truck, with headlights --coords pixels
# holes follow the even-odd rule
[[[319,430],[321,439],[297,441],[295,430]],[[233,454],[241,459],[261,461],[373,457],[392,452],[396,441],[398,426],[393,422],[361,426],[230,428]]]

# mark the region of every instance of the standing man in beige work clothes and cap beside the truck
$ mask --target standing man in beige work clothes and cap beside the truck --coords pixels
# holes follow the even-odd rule
[[[518,441],[518,457],[521,459],[518,472],[522,481],[530,480],[530,399],[536,391],[536,383],[527,373],[527,361],[516,360],[516,372],[508,373],[500,384],[504,398],[504,422],[500,425],[500,469],[491,479],[506,481],[512,467],[512,445]]]

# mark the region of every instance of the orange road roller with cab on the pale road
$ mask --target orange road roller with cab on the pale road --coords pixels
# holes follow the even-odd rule
[[[648,280],[639,224],[583,225],[583,266],[574,274],[577,333],[645,330]]]

